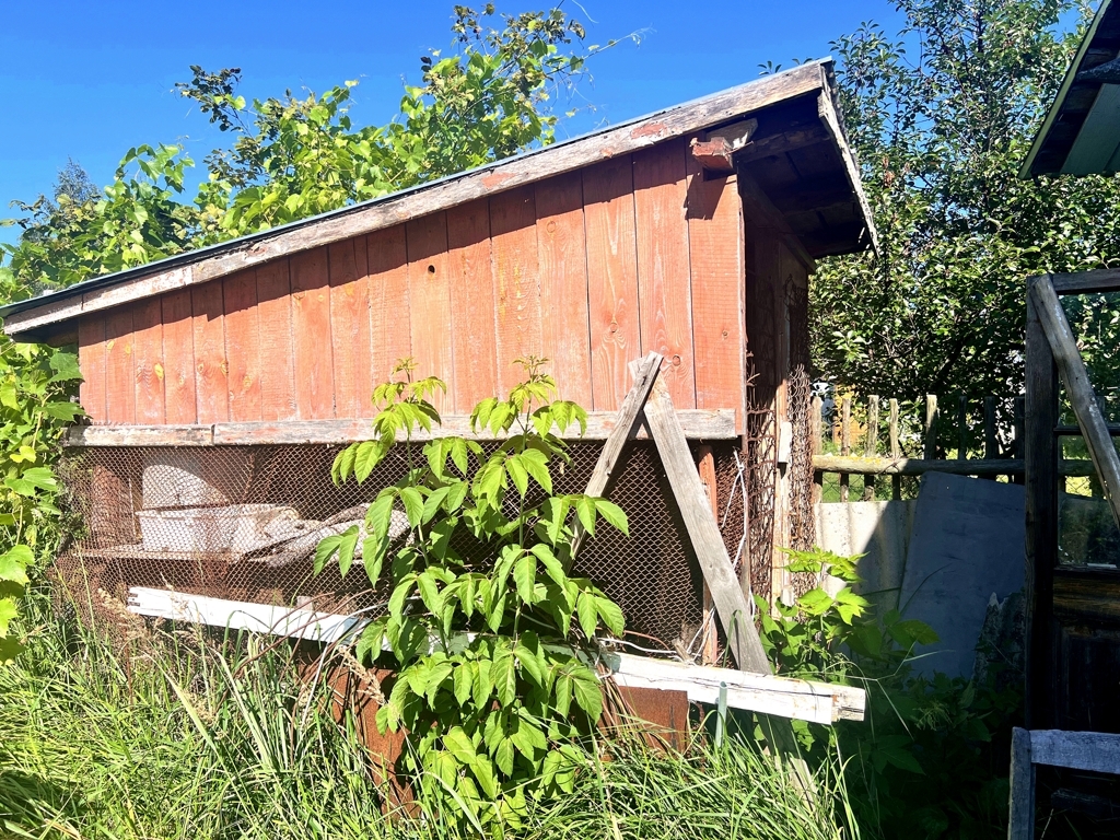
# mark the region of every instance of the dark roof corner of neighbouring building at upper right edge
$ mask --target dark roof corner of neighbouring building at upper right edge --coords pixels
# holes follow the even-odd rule
[[[1120,171],[1120,3],[1104,0],[1019,172]]]

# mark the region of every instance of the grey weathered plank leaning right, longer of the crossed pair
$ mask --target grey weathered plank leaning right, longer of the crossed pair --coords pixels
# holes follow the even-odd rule
[[[769,662],[758,641],[750,605],[739,587],[719,525],[704,498],[703,485],[673,411],[672,398],[660,380],[654,383],[645,404],[645,418],[735,661],[743,671],[768,674]]]

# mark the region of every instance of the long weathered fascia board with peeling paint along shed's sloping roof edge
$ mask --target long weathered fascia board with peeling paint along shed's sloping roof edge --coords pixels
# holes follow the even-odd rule
[[[116,276],[95,278],[44,298],[19,301],[0,308],[4,332],[15,336],[83,312],[116,306],[125,300],[204,283],[298,251],[373,233],[514,187],[581,169],[600,160],[629,155],[674,137],[718,127],[777,102],[822,88],[831,90],[828,69],[831,64],[831,58],[803,64],[582,138],[525,152],[292,225],[168,258],[162,261],[166,267],[162,270],[159,268],[160,263],[152,263],[144,267],[148,271],[143,271],[143,268],[133,269],[122,272],[123,277],[120,279]],[[836,142],[846,142],[841,131],[833,130],[832,134]]]

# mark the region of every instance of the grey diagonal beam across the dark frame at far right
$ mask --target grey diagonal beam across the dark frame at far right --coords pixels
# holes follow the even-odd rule
[[[1096,394],[1093,393],[1089,372],[1077,349],[1077,342],[1049,277],[1040,277],[1032,283],[1030,296],[1034,298],[1043,333],[1054,354],[1058,375],[1073,404],[1073,413],[1085,439],[1089,457],[1096,468],[1096,476],[1112,511],[1112,519],[1117,528],[1120,528],[1120,457],[1117,456],[1112,438],[1109,436],[1109,428],[1096,402]]]

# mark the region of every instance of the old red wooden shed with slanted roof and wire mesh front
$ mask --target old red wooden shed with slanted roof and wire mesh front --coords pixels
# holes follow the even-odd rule
[[[325,475],[332,447],[370,436],[370,393],[405,356],[446,380],[445,428],[458,432],[476,401],[519,381],[514,360],[548,357],[562,396],[590,412],[591,464],[627,363],[654,349],[697,458],[716,461],[744,582],[769,596],[773,545],[805,528],[812,539],[808,278],[815,259],[874,243],[822,60],[0,316],[17,340],[78,347],[88,424],[72,431],[68,475],[85,560],[139,558],[175,584],[167,570],[192,563],[144,544],[152,510],[279,502],[328,522],[361,500],[293,487]],[[636,450],[619,492],[641,508],[657,464]],[[198,485],[168,492],[176,475]],[[664,558],[665,528],[647,529],[662,534],[651,557]],[[616,563],[601,566],[610,578]]]

